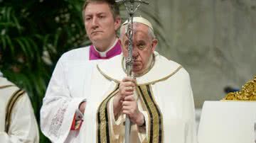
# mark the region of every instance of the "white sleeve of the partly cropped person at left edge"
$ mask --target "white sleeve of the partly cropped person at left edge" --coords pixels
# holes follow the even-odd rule
[[[11,111],[9,131],[0,132],[0,141],[8,143],[38,143],[38,125],[27,94],[16,101]]]

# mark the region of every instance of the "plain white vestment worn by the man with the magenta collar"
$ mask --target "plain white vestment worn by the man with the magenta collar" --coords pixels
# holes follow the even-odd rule
[[[92,67],[90,47],[66,52],[60,57],[48,84],[41,108],[41,130],[51,142],[80,142],[79,131],[70,131],[75,110],[90,94]]]

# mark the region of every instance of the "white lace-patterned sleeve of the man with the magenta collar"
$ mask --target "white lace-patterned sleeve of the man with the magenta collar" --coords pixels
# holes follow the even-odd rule
[[[84,98],[70,95],[62,59],[58,61],[48,84],[41,108],[41,130],[51,142],[65,142],[75,111]]]

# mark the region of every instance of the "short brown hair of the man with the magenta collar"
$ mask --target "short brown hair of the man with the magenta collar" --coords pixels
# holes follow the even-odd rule
[[[119,6],[114,0],[87,0],[85,1],[85,4],[82,6],[82,18],[85,18],[85,8],[90,3],[105,3],[110,6],[110,11],[112,13],[112,16],[114,20],[117,18],[117,16],[120,16],[119,12]]]

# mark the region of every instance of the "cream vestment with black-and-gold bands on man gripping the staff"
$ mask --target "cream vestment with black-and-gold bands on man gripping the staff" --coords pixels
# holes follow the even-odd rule
[[[132,125],[131,142],[196,143],[193,93],[188,72],[154,52],[154,66],[137,77],[136,98],[146,129]],[[97,65],[92,74],[84,142],[124,142],[124,115],[114,120],[112,98],[125,76],[122,55]]]

